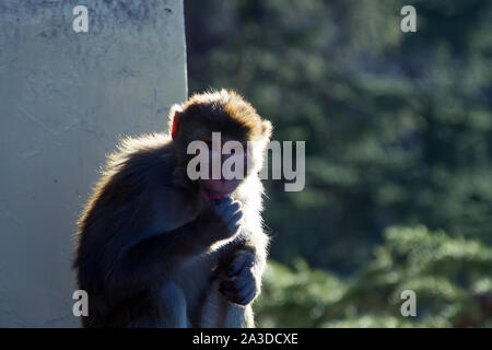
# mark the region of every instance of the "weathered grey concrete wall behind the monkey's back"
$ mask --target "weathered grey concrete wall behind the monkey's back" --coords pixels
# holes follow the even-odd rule
[[[185,100],[184,35],[181,0],[0,2],[0,327],[79,326],[74,222],[119,136]]]

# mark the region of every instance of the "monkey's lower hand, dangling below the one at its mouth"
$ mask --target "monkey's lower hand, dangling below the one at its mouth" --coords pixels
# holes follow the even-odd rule
[[[251,249],[238,250],[225,275],[219,291],[231,302],[246,306],[259,294],[261,277],[255,270]]]

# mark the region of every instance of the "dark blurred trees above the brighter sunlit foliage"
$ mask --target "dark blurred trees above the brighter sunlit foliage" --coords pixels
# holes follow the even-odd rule
[[[417,33],[400,31],[405,4]],[[187,0],[185,10],[190,91],[236,89],[276,139],[306,140],[306,188],[268,184],[273,258],[354,272],[395,224],[492,242],[492,2]]]

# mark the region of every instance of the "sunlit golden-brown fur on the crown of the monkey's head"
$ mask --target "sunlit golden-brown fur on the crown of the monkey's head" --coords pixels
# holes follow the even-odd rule
[[[231,90],[211,91],[192,95],[183,105],[175,105],[169,113],[169,130],[178,118],[177,132],[186,142],[203,137],[206,132],[220,131],[237,140],[270,139],[272,126],[239,94]],[[202,125],[203,128],[197,128]],[[179,138],[181,139],[181,138]]]

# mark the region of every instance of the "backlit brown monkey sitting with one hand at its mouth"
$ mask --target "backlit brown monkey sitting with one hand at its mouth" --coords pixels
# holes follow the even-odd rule
[[[169,135],[126,139],[109,155],[78,222],[84,327],[254,326],[268,245],[258,172],[271,124],[225,90],[194,95],[169,120]],[[188,144],[212,132],[253,144],[244,179],[190,179]]]

